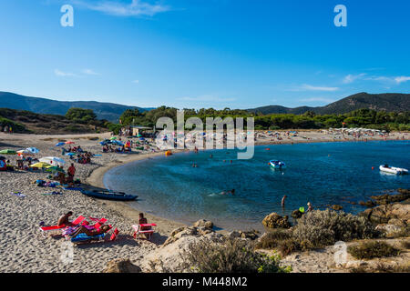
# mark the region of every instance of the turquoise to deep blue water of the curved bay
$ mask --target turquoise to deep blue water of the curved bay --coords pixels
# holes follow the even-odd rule
[[[272,169],[268,166],[272,159],[284,161],[287,168]],[[227,229],[261,229],[264,216],[289,215],[308,201],[316,208],[338,204],[346,212],[358,213],[364,207],[349,202],[410,188],[410,175],[382,174],[378,169],[382,164],[410,168],[410,143],[256,146],[251,160],[237,160],[234,150],[180,153],[118,166],[108,171],[104,183],[138,194],[140,199],[131,205],[157,216],[187,223],[205,218]],[[220,195],[232,188],[235,196]]]

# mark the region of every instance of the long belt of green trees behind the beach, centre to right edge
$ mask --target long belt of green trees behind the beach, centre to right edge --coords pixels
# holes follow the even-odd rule
[[[177,121],[177,108],[160,106],[159,108],[139,112],[138,109],[126,110],[120,116],[121,125],[144,125],[154,126],[159,117],[168,116]],[[252,113],[247,110],[224,108],[184,109],[185,120],[190,117],[199,117],[205,125],[206,117],[253,117],[255,129],[323,129],[341,127],[367,127],[386,131],[410,130],[410,111],[397,113],[375,111],[371,109],[358,109],[343,115],[317,115],[312,111],[302,115],[294,114],[268,114]]]

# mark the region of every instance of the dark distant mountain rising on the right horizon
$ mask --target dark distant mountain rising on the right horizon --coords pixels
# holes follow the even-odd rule
[[[410,111],[410,94],[367,94],[359,93],[350,95],[329,105],[319,107],[296,107],[288,108],[279,105],[262,106],[248,109],[253,113],[268,114],[295,114],[302,115],[306,111],[313,111],[319,115],[342,115],[357,109],[374,109],[384,110],[387,112],[404,112]]]

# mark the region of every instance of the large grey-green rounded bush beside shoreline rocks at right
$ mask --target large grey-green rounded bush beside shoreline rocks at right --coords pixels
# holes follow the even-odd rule
[[[330,209],[308,212],[298,220],[293,237],[303,248],[333,245],[337,241],[378,236],[364,217]]]

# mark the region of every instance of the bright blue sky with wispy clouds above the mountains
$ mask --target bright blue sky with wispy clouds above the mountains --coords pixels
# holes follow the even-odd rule
[[[409,15],[408,0],[3,0],[0,91],[197,109],[410,93]]]

